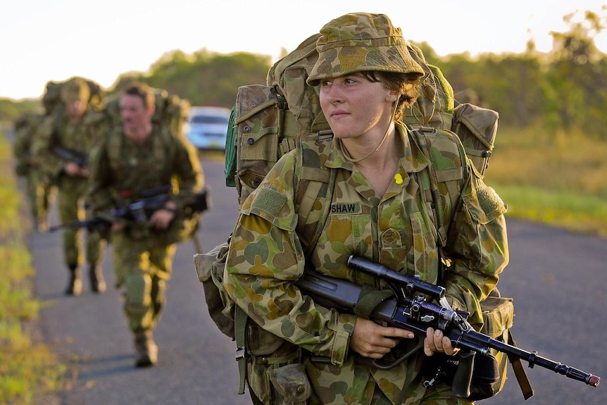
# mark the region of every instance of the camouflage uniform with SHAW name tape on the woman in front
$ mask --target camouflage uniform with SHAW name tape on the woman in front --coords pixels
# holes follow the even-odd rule
[[[356,23],[359,16],[345,18]],[[367,16],[360,20],[365,23]],[[338,19],[337,23],[344,23],[344,19]],[[352,58],[362,55],[363,60],[368,56],[362,51],[344,52],[342,56],[337,49],[337,55],[324,54],[327,56],[324,58],[322,40],[318,42],[320,58],[311,80],[342,75],[339,63],[348,66],[351,62],[348,54]],[[377,58],[370,59],[377,65]],[[360,59],[356,61],[358,66],[365,64]],[[356,71],[356,63],[350,66],[349,71]],[[385,70],[391,68],[384,66]],[[415,71],[415,66],[406,63],[399,66]],[[276,368],[300,360],[312,386],[306,401],[309,404],[470,404],[456,398],[445,384],[423,387],[420,370],[425,355],[421,352],[390,370],[357,361],[349,350],[356,316],[319,306],[294,286],[307,262],[320,273],[335,278],[386,288],[371,276],[349,270],[346,263],[351,254],[410,276],[420,275],[428,282],[439,281],[437,225],[432,204],[420,195],[424,190],[421,173],[430,162],[403,125],[396,124],[396,134],[396,143],[404,152],[394,180],[383,196],[344,157],[339,140],[334,139],[329,150],[320,155],[321,168],[337,170],[337,177],[330,214],[307,258],[295,232],[298,219],[293,202],[294,173],[298,166],[294,152],[278,161],[241,207],[230,242],[224,283],[230,297],[255,323],[249,326],[246,341],[250,355],[247,370],[249,386],[264,404],[280,403],[277,401],[280,393],[273,390],[270,382],[263,383],[265,375],[276,375]],[[453,259],[453,266],[442,278],[442,285],[451,306],[469,311],[470,323],[480,327],[480,300],[496,287],[498,275],[508,262],[503,218],[506,207],[493,189],[484,185],[470,161],[463,162],[462,171],[461,196],[453,206],[444,247],[444,254]],[[289,357],[289,351],[295,355]],[[311,355],[329,361],[318,362]]]

